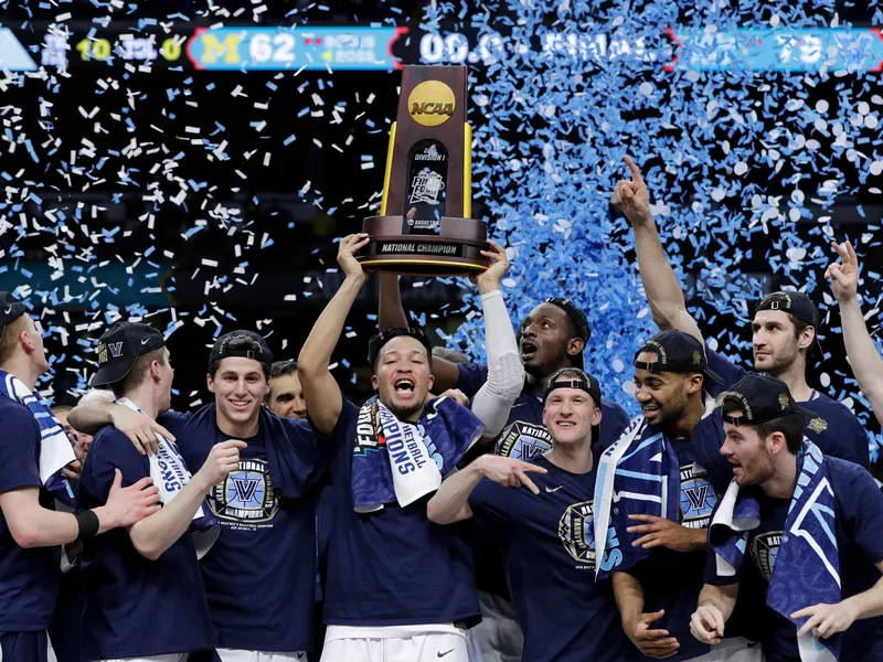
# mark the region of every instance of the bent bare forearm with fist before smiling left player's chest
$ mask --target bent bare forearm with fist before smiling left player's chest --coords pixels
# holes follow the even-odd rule
[[[184,534],[193,515],[205,501],[209,489],[238,468],[240,449],[245,446],[238,439],[215,444],[202,469],[193,474],[174,499],[166,503],[158,513],[129,527],[131,544],[141,556],[157,560]]]

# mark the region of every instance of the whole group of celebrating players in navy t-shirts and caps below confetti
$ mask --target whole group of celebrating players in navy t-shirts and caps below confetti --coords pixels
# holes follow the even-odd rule
[[[474,277],[488,364],[434,350],[381,276],[361,405],[329,365],[366,235],[341,242],[345,279],[298,361],[221,337],[195,414],[170,410],[162,335],[129,322],[98,339],[104,391],[51,409],[39,324],[0,292],[0,660],[883,660],[883,494],[865,430],[807,384],[818,310],[760,301],[756,373],[708,348],[627,162],[614,202],[660,329],[632,421],[584,371],[568,299],[512,329],[493,243]],[[858,260],[834,248],[883,418]]]

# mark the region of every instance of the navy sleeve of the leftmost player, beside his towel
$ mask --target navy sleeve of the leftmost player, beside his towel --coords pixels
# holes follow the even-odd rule
[[[39,488],[40,427],[23,406],[10,402],[0,409],[0,493]]]

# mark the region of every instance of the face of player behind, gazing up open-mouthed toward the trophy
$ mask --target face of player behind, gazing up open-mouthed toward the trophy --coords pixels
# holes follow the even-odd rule
[[[584,349],[574,338],[573,322],[553,303],[540,303],[521,322],[519,352],[524,370],[538,380],[573,365],[573,356]]]

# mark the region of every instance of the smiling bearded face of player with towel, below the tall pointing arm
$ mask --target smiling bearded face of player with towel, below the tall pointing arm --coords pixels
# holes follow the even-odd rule
[[[656,363],[656,352],[641,352],[638,361]],[[650,372],[635,369],[635,397],[648,425],[661,427],[678,420],[690,403],[690,395],[702,388],[698,373]]]

